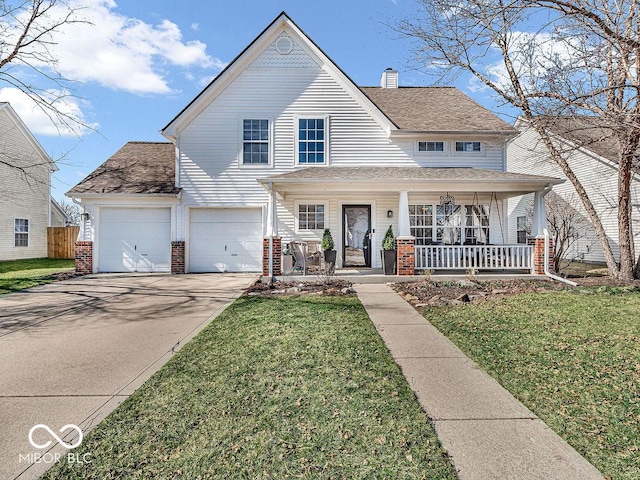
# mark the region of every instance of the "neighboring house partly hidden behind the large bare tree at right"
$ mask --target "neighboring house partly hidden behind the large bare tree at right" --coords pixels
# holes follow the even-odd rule
[[[607,232],[614,256],[619,259],[618,248],[618,166],[617,142],[610,129],[603,128],[595,117],[556,117],[548,122],[557,147],[584,186]],[[528,123],[519,119],[515,127],[520,134],[509,142],[507,170],[532,172],[541,175],[563,176],[560,167],[549,157],[539,135]],[[640,177],[632,181],[632,229],[636,252],[640,251]],[[604,263],[600,242],[591,226],[586,211],[570,182],[553,189],[564,205],[577,212],[579,236],[564,257],[569,260]],[[556,198],[558,198],[556,197]],[[531,195],[509,200],[509,240],[524,241],[527,229],[527,211],[531,208]]]

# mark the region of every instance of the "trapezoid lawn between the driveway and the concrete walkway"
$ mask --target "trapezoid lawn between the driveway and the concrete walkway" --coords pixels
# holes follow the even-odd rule
[[[240,298],[74,452],[45,478],[455,478],[353,296]]]

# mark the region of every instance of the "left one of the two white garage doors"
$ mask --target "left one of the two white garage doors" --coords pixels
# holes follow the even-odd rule
[[[99,235],[99,271],[171,271],[170,208],[102,208]]]

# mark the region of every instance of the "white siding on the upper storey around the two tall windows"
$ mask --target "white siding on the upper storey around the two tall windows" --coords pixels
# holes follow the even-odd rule
[[[326,154],[331,166],[504,168],[504,141],[497,138],[487,143],[482,156],[449,151],[417,158],[415,140],[390,141],[388,132],[329,70],[294,41],[289,55],[280,55],[270,46],[180,132],[184,203],[266,204],[268,194],[257,180],[296,168],[297,120],[329,115]],[[238,125],[248,118],[272,119],[272,168],[237,168],[242,159]]]

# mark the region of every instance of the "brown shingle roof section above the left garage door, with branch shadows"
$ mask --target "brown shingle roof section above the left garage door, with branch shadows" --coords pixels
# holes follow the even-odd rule
[[[177,195],[179,192],[180,188],[175,186],[174,145],[168,142],[129,142],[66,195]]]

